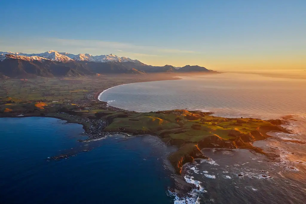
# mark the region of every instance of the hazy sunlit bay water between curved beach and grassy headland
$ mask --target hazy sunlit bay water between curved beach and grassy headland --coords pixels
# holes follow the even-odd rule
[[[100,100],[139,112],[200,109],[220,116],[263,119],[305,114],[304,79],[237,73],[181,78],[114,87],[105,91]]]

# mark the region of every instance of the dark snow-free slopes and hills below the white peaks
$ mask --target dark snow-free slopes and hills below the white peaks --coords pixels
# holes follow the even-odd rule
[[[98,74],[144,74],[158,72],[214,72],[200,66],[186,65],[175,69],[172,65],[151,66],[142,62],[90,62],[19,59],[15,55],[1,55],[0,77],[32,78],[36,76],[94,76]],[[15,57],[14,57],[15,56]]]

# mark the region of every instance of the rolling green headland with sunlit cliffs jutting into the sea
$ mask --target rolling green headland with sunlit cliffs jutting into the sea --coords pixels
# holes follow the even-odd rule
[[[118,113],[116,113],[118,114]],[[270,137],[267,132],[288,132],[278,126],[280,120],[263,121],[254,118],[224,118],[211,113],[170,110],[150,113],[122,113],[103,116],[109,121],[104,131],[127,132],[136,135],[157,135],[165,143],[178,147],[169,160],[180,174],[182,166],[194,158],[206,158],[202,148],[244,148],[264,153],[252,142]]]

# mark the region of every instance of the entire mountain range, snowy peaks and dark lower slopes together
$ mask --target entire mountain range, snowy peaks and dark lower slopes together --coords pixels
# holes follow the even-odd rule
[[[151,66],[128,57],[113,54],[93,56],[50,50],[39,54],[0,52],[0,76],[31,78],[36,76],[92,76],[96,74],[215,72],[205,67]]]

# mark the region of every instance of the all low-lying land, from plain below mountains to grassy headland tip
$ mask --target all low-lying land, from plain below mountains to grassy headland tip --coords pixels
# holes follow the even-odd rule
[[[178,150],[169,156],[175,171],[194,158],[206,158],[202,148],[245,148],[265,154],[252,142],[269,137],[269,131],[287,132],[280,120],[224,118],[187,110],[137,113],[97,101],[99,93],[112,86],[152,80],[169,80],[172,75],[105,78],[47,78],[0,83],[0,117],[55,117],[84,126],[88,139],[114,132],[152,134]],[[108,77],[108,78],[107,78]],[[83,141],[83,140],[82,140]],[[272,155],[268,155],[272,156]],[[65,158],[65,155],[54,159]]]

